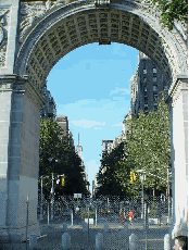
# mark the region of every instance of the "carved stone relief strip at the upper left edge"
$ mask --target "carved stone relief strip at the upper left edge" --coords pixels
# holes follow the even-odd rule
[[[5,66],[10,9],[0,7],[0,67]]]

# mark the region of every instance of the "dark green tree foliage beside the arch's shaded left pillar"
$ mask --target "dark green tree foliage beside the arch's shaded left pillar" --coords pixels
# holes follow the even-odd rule
[[[41,120],[39,177],[43,176],[45,192],[50,192],[53,173],[56,196],[88,193],[84,182],[84,165],[72,141],[71,136],[63,136],[63,130],[55,121]],[[56,184],[60,175],[64,175],[64,186],[61,186],[61,182]]]

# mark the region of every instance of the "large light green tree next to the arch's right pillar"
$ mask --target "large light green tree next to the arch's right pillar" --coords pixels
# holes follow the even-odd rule
[[[139,176],[130,184],[128,175],[130,170],[143,170],[147,173],[144,189],[153,189],[153,195],[165,191],[167,166],[171,165],[171,128],[164,97],[159,99],[158,110],[148,114],[140,111],[138,117],[131,114],[126,123],[128,133],[125,151],[128,155],[117,167],[116,178],[125,189],[136,193],[141,190]]]

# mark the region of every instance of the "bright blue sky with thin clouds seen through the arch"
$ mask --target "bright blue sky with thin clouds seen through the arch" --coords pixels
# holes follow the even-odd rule
[[[137,66],[136,49],[115,42],[91,43],[62,58],[47,78],[56,114],[68,117],[75,146],[79,133],[90,190],[100,166],[102,140],[121,135]]]

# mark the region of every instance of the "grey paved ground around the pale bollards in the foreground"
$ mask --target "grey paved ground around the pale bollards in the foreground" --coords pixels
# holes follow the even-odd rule
[[[65,223],[65,222],[64,222]],[[62,249],[62,235],[63,232],[63,222],[53,221],[50,222],[48,226],[47,221],[41,221],[40,223],[41,238],[37,240],[38,247],[40,250],[61,250]],[[128,245],[128,236],[131,234],[136,234],[139,237],[140,241],[140,250],[144,249],[144,238],[143,238],[143,229],[140,222],[134,222],[133,225],[128,225],[128,235],[127,238],[124,235],[123,225],[121,223],[109,223],[109,232],[104,233],[103,224],[99,223],[98,226],[90,225],[89,229],[89,238],[87,232],[83,229],[81,224],[77,225],[74,222],[74,225],[71,225],[71,222],[66,222],[67,224],[67,233],[71,236],[72,250],[94,250],[96,247],[96,235],[98,233],[102,233],[104,249],[108,250],[126,250],[125,246]],[[153,246],[151,249],[162,250],[163,248],[163,237],[164,230],[166,226],[162,225],[161,227],[154,225],[150,229],[149,234],[149,245]],[[155,247],[155,246],[156,247]],[[155,248],[154,248],[155,247]],[[22,243],[3,243],[0,245],[0,250],[29,250],[29,242]]]

